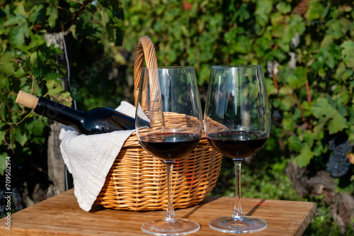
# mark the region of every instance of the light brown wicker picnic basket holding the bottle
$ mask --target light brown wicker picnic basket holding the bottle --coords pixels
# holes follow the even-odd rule
[[[147,67],[157,67],[154,43],[148,36],[139,39],[136,49],[135,106],[144,61]],[[179,118],[183,116],[164,116],[165,122]],[[203,133],[198,147],[173,165],[174,208],[200,203],[214,188],[221,162],[222,156],[212,149]],[[117,210],[167,208],[166,166],[140,146],[135,133],[125,141],[95,203]]]

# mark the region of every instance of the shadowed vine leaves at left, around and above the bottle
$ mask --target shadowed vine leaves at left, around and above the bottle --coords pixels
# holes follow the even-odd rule
[[[122,8],[116,0],[92,2],[0,1],[1,174],[6,156],[13,164],[46,156],[48,120],[15,103],[20,89],[72,106],[71,94],[62,87],[70,76],[79,110],[115,108],[124,98],[126,82],[109,77],[113,64],[122,61]],[[54,42],[47,44],[45,37],[53,33],[58,33],[57,45],[60,33],[67,35],[65,52]],[[40,165],[45,168],[45,161]]]

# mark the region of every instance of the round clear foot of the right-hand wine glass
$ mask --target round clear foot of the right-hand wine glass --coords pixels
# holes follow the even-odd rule
[[[244,216],[242,218],[220,217],[210,221],[209,226],[213,230],[221,232],[258,232],[268,227],[265,220]]]

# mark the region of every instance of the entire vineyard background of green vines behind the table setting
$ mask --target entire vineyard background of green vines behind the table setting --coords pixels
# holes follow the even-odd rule
[[[159,65],[195,67],[202,104],[212,65],[263,65],[273,126],[245,160],[242,196],[314,201],[305,235],[353,235],[353,18],[354,1],[0,0],[0,178],[11,157],[13,209],[33,183],[53,184],[50,120],[18,106],[18,90],[81,111],[133,103],[135,47],[149,35]],[[213,195],[234,196],[232,165]]]

